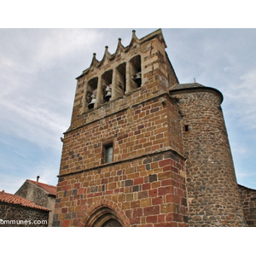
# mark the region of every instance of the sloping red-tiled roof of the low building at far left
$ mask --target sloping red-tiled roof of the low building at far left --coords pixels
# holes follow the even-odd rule
[[[29,201],[20,195],[13,195],[9,193],[5,193],[4,190],[0,191],[0,201],[7,204],[19,205],[21,207],[29,207],[33,209],[43,210],[50,212],[49,209],[45,207],[40,207],[34,204],[32,201]]]

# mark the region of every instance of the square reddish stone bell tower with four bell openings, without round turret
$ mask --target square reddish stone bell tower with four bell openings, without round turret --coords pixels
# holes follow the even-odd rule
[[[64,133],[55,226],[187,226],[178,84],[161,30],[93,58]]]

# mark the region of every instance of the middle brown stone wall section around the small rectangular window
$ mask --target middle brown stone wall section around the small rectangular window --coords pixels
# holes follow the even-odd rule
[[[60,175],[101,166],[102,146],[110,142],[114,161],[166,149],[183,152],[177,106],[166,94],[68,132],[63,142]]]

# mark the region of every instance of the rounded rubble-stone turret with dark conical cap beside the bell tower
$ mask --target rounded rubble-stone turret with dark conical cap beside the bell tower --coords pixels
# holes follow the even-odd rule
[[[197,83],[177,84],[170,94],[183,134],[189,226],[245,225],[222,94]]]

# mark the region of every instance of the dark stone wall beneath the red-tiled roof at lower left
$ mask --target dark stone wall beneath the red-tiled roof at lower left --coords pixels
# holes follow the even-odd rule
[[[49,212],[0,202],[1,227],[47,227]]]

